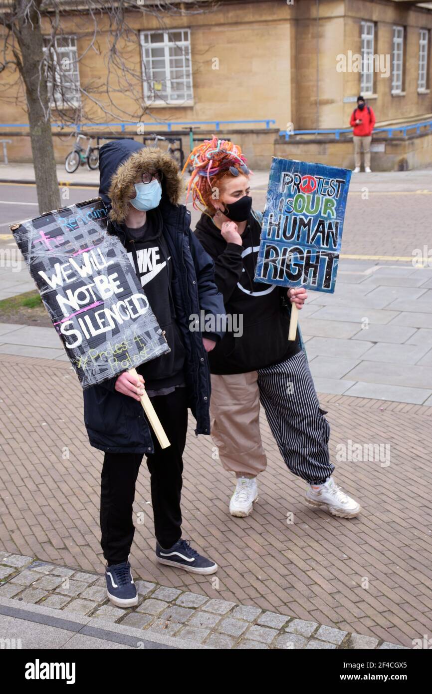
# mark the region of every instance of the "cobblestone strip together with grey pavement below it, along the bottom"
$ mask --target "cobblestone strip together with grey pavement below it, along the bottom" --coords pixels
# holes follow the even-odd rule
[[[146,581],[137,582],[137,607],[119,609],[105,577],[6,552],[0,577],[0,633],[20,648],[406,648]]]

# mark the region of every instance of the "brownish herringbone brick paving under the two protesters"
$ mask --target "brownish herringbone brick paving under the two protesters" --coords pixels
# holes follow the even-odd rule
[[[78,380],[60,360],[3,355],[0,369],[0,546],[100,572],[103,455],[87,443]],[[320,403],[331,424],[336,482],[361,502],[358,518],[333,518],[304,504],[304,482],[284,466],[264,418],[268,468],[259,477],[259,502],[252,516],[232,518],[232,475],[190,421],[184,536],[217,561],[218,582],[155,564],[145,464],[134,507],[135,575],[411,648],[432,625],[432,408],[337,395]]]

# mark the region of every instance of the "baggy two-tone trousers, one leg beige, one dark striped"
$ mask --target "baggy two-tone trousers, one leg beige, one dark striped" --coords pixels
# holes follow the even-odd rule
[[[325,482],[334,471],[330,426],[303,351],[259,371],[211,375],[210,433],[225,470],[256,477],[266,469],[260,404],[288,469],[309,484]]]

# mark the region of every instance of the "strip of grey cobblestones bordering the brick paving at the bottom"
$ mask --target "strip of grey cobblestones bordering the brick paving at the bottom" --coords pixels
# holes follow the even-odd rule
[[[105,577],[0,552],[0,598],[59,611],[102,617],[113,623],[223,649],[404,649],[406,647],[147,581],[135,582],[139,602],[114,607]]]

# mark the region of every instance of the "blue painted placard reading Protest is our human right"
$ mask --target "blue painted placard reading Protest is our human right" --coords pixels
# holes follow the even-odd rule
[[[255,280],[334,292],[351,171],[273,157]]]

